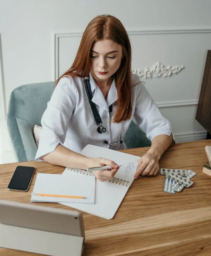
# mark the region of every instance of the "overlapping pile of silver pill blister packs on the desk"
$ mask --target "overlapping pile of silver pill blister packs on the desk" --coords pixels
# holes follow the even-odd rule
[[[188,169],[160,169],[161,175],[165,175],[163,191],[171,194],[180,192],[184,187],[190,187],[193,181],[190,179],[197,175],[196,172]]]

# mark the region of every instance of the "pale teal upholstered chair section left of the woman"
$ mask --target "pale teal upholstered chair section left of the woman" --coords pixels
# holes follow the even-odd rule
[[[25,84],[10,95],[7,125],[19,162],[35,159],[37,146],[33,129],[41,125],[53,88],[54,82]]]

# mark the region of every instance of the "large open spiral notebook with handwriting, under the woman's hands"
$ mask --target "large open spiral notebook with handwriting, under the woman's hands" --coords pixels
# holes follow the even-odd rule
[[[103,157],[113,160],[118,165],[121,165],[116,175],[110,181],[101,182],[95,181],[95,204],[72,204],[61,203],[68,207],[72,207],[101,218],[112,219],[121,201],[126,195],[128,189],[134,180],[136,166],[140,157],[115,151],[112,149],[102,148],[94,145],[87,145],[81,154],[86,157]],[[93,175],[92,172],[86,172],[79,169],[66,168],[62,175],[68,177],[71,172],[78,172],[78,175]]]

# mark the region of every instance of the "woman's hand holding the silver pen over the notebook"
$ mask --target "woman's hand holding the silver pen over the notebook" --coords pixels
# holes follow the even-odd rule
[[[112,179],[116,172],[119,170],[119,166],[114,161],[105,158],[89,158],[88,160],[88,168],[106,165],[111,166],[113,168],[110,170],[93,171],[95,177],[100,181]]]

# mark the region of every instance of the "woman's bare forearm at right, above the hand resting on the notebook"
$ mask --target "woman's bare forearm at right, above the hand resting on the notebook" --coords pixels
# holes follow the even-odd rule
[[[153,154],[158,160],[162,156],[162,154],[166,151],[166,149],[171,145],[173,141],[172,134],[170,136],[161,134],[153,138],[152,145],[148,152]]]

